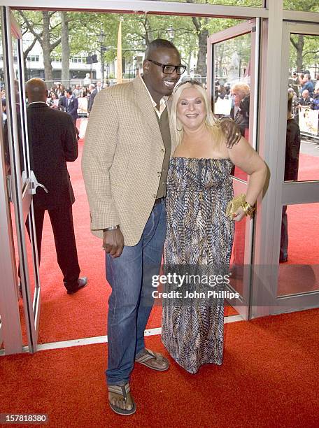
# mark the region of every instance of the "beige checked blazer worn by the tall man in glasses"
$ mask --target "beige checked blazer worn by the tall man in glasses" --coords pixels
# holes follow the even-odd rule
[[[171,129],[171,154],[176,148]],[[153,209],[164,159],[156,113],[141,78],[95,97],[85,134],[82,171],[92,233],[120,224],[136,245]]]

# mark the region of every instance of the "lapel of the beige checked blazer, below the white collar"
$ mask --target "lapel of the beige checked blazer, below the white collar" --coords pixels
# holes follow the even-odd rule
[[[136,101],[139,105],[139,108],[141,109],[143,119],[146,120],[146,122],[150,126],[152,134],[155,137],[155,141],[160,146],[162,146],[162,134],[160,131],[160,126],[157,122],[156,113],[152,101],[150,100],[150,96],[148,95],[148,92],[146,91],[146,88],[144,87],[143,82],[141,82],[141,78],[139,76],[137,76],[133,80],[133,87],[136,96]]]

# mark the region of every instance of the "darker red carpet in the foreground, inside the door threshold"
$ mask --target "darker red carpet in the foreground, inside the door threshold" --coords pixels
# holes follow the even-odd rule
[[[146,340],[166,354],[158,336]],[[106,404],[106,345],[2,357],[1,413],[48,413],[45,426],[59,428],[315,428],[318,343],[319,310],[226,324],[222,366],[190,375],[175,362],[163,373],[136,364],[126,418]]]

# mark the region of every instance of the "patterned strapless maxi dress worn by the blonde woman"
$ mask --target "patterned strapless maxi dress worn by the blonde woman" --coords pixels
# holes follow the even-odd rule
[[[172,157],[166,187],[165,265],[229,266],[234,222],[225,215],[234,197],[229,159]],[[190,373],[222,364],[224,301],[163,300],[162,342]]]

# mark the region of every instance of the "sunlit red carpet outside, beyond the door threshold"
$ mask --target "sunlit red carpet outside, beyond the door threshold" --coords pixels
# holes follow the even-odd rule
[[[42,306],[39,343],[106,334],[107,301],[110,290],[105,280],[101,241],[90,233],[90,214],[80,169],[82,150],[83,141],[80,140],[78,159],[69,163],[68,169],[76,195],[73,218],[81,275],[88,276],[89,284],[73,296],[66,294],[62,273],[57,265],[50,220],[48,215],[45,215],[40,266]],[[302,159],[304,157],[306,162],[302,160],[301,165],[305,166],[306,170],[301,171],[301,174],[311,173],[313,176],[311,162],[314,165],[314,159],[302,155]],[[318,168],[318,162],[314,167]],[[294,211],[294,215],[290,215],[290,210],[297,208],[299,211]],[[288,208],[290,263],[318,262],[319,241],[313,239],[314,234],[319,233],[318,213],[318,204]],[[236,311],[234,308],[226,308],[225,313],[233,315]],[[157,306],[150,316],[148,328],[160,327],[161,324],[161,308]]]

